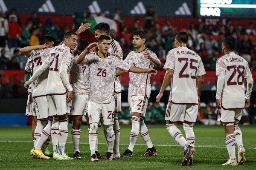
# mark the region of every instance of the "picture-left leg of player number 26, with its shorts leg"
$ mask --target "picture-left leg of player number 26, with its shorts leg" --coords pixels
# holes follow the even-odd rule
[[[98,123],[99,123],[99,116],[101,113],[101,104],[90,102],[88,105],[88,117],[90,122],[90,130],[89,130],[89,144],[90,144],[90,155],[91,161],[98,161],[99,159],[95,153],[95,146],[97,140],[97,130],[98,130]]]

